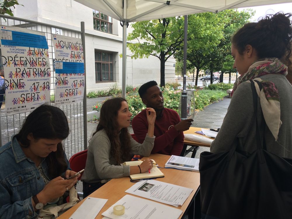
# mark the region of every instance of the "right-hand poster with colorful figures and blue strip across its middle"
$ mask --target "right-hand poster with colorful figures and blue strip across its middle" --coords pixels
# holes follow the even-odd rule
[[[55,66],[55,104],[83,101],[84,57],[82,40],[52,34]]]

